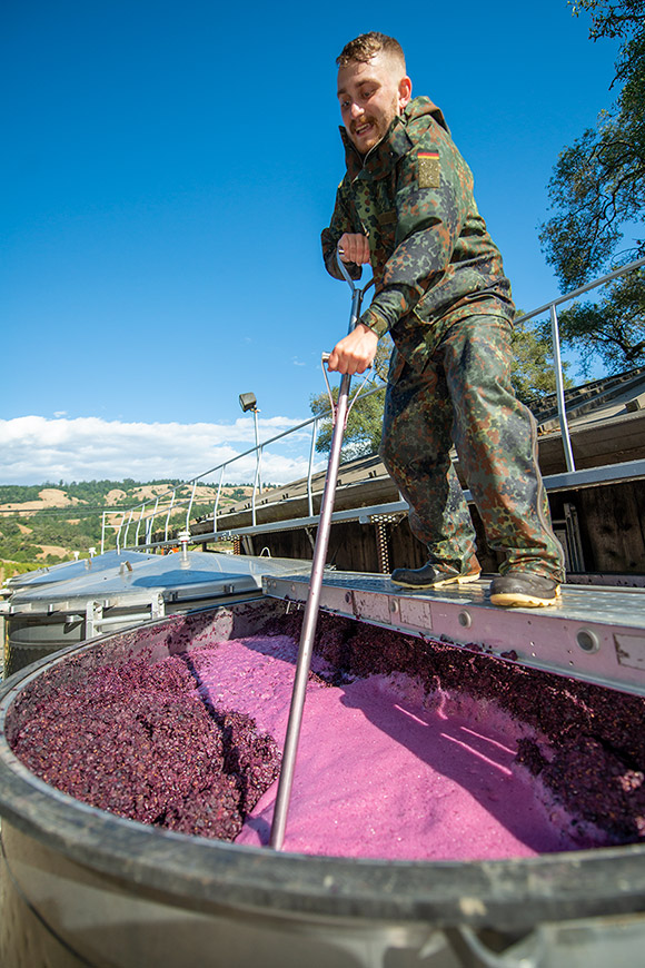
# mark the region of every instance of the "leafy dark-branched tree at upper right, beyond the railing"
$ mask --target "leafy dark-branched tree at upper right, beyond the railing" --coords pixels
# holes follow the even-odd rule
[[[554,215],[542,226],[547,261],[564,292],[645,256],[645,0],[578,0],[589,37],[621,41],[611,110],[565,147],[548,185]],[[627,238],[626,238],[627,236]],[[638,271],[607,286],[603,300],[562,314],[563,346],[588,371],[599,357],[612,372],[645,362],[645,286]]]

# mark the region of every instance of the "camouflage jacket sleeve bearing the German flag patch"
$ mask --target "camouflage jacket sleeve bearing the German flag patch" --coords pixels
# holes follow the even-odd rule
[[[360,322],[381,336],[414,312],[421,296],[448,267],[472,199],[470,170],[448,138],[431,145],[439,151],[439,174],[425,187],[419,147],[399,162],[396,191],[396,248],[387,260],[383,285]],[[434,179],[429,179],[434,181]]]

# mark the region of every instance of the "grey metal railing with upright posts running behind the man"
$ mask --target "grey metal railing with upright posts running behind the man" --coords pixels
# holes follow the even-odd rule
[[[524,322],[527,322],[528,319],[533,319],[536,316],[540,316],[544,313],[548,313],[549,317],[550,317],[550,334],[552,334],[552,343],[553,343],[554,369],[555,369],[555,379],[556,379],[557,413],[558,413],[558,421],[559,421],[559,426],[560,426],[560,432],[562,432],[562,441],[563,441],[567,474],[575,474],[576,466],[575,466],[575,458],[574,458],[574,453],[573,453],[573,447],[572,447],[569,426],[568,426],[568,421],[567,421],[567,415],[566,415],[557,307],[562,306],[565,303],[570,303],[570,302],[579,298],[579,296],[582,296],[583,294],[588,293],[592,289],[598,288],[599,286],[603,286],[606,283],[612,281],[612,279],[615,279],[622,275],[626,275],[627,273],[631,273],[634,269],[641,268],[642,266],[645,266],[645,258],[636,259],[635,261],[628,263],[627,265],[621,267],[619,269],[616,269],[615,271],[612,271],[612,273],[607,273],[606,275],[602,276],[601,278],[595,279],[593,283],[589,283],[585,286],[580,286],[579,288],[574,289],[570,293],[566,293],[564,296],[558,296],[556,299],[552,299],[550,302],[545,303],[543,306],[539,306],[537,309],[533,309],[530,313],[524,314],[523,316],[518,317],[518,319],[517,319],[517,323],[524,323]],[[371,396],[374,393],[378,393],[379,391],[381,391],[384,388],[384,386],[385,386],[385,384],[383,382],[380,382],[377,386],[374,386],[371,389],[365,391],[361,395],[361,399],[367,398],[368,396]],[[359,405],[360,405],[360,401],[358,402],[357,406],[359,406]],[[156,497],[155,505],[148,514],[146,513],[146,510],[149,506],[150,502],[142,502],[140,504],[135,505],[131,508],[123,510],[122,512],[120,508],[118,511],[117,510],[103,511],[102,526],[101,526],[101,554],[103,553],[105,547],[106,547],[106,537],[107,537],[107,533],[109,530],[117,531],[116,546],[117,546],[118,551],[122,550],[123,547],[130,546],[130,545],[128,545],[128,537],[129,537],[130,527],[131,527],[133,521],[136,522],[136,532],[135,532],[135,543],[133,543],[133,545],[131,545],[132,547],[156,549],[156,547],[167,546],[169,544],[177,544],[178,539],[176,539],[175,536],[171,537],[169,535],[170,515],[171,515],[172,511],[176,511],[177,508],[179,508],[181,506],[186,506],[186,518],[185,518],[185,525],[183,525],[185,533],[183,533],[183,535],[181,535],[181,537],[186,542],[188,540],[188,537],[190,537],[190,514],[191,514],[191,511],[192,511],[192,507],[195,504],[197,486],[198,486],[200,481],[204,482],[205,478],[211,477],[214,474],[217,474],[218,472],[219,472],[219,482],[217,485],[217,495],[216,495],[216,498],[214,502],[214,507],[212,507],[212,523],[214,523],[212,533],[208,534],[208,535],[199,534],[199,541],[204,542],[205,539],[207,539],[207,537],[216,540],[218,537],[230,536],[230,535],[237,534],[237,533],[250,534],[255,530],[257,530],[257,531],[264,530],[265,526],[257,524],[257,506],[258,506],[257,498],[258,498],[258,493],[259,493],[258,482],[261,481],[262,456],[269,447],[275,446],[276,444],[278,444],[279,442],[284,441],[287,437],[290,437],[290,436],[296,435],[296,434],[301,434],[307,428],[310,428],[310,434],[311,434],[307,476],[306,476],[306,496],[307,496],[307,505],[308,505],[308,515],[307,515],[307,517],[300,518],[300,522],[302,525],[309,524],[310,522],[314,522],[316,520],[316,515],[314,514],[312,478],[314,478],[314,464],[315,464],[314,457],[315,457],[315,451],[316,451],[316,439],[318,437],[318,428],[319,428],[320,422],[324,421],[325,418],[327,418],[329,416],[329,413],[330,413],[330,409],[327,412],[324,412],[321,414],[318,414],[314,417],[310,417],[309,419],[304,421],[302,423],[297,424],[296,426],[290,427],[289,429],[284,431],[282,433],[277,434],[276,436],[270,437],[269,439],[264,441],[260,444],[257,444],[257,446],[250,447],[248,451],[245,451],[241,454],[237,454],[235,457],[230,457],[228,461],[225,461],[221,464],[217,464],[215,467],[211,467],[208,471],[205,471],[202,474],[199,474],[197,477],[194,477],[192,480],[190,480],[188,482],[183,482],[182,484],[178,484],[173,487],[168,488],[167,492],[163,492],[162,494],[160,494]],[[219,507],[220,507],[220,498],[221,498],[224,482],[226,480],[226,474],[228,473],[229,468],[232,465],[239,464],[240,462],[244,462],[248,457],[255,457],[255,465],[256,465],[255,480],[254,480],[252,493],[251,493],[251,508],[250,508],[251,510],[251,525],[250,525],[250,527],[240,527],[240,529],[236,529],[235,531],[231,531],[230,529],[225,529],[224,531],[218,531],[218,512],[219,512]],[[191,487],[190,496],[189,497],[179,497],[178,496],[179,493],[185,491],[187,487]],[[399,503],[396,504],[397,508],[399,506]],[[393,504],[391,507],[394,508],[395,505]],[[390,505],[387,505],[386,510],[388,510],[388,508],[390,508]],[[374,508],[374,510],[383,512],[384,508],[379,507],[379,508]],[[369,512],[369,508],[360,508],[360,514],[363,516],[367,515],[368,512]],[[356,512],[356,513],[358,513],[358,512]],[[112,517],[115,517],[115,515],[118,516],[119,514],[121,514],[121,521],[120,521],[118,527],[116,527],[116,525],[110,526],[108,523],[108,518],[112,518]],[[158,540],[158,541],[152,541],[153,530],[155,530],[155,521],[158,516],[160,516],[162,514],[166,515],[165,529],[163,529],[163,539]],[[282,522],[282,526],[286,524],[291,524],[291,522]],[[145,541],[139,542],[139,536],[140,536],[140,532],[141,532],[142,526],[145,527]]]

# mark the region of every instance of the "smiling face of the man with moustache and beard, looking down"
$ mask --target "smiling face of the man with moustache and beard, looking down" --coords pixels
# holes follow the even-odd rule
[[[385,137],[408,103],[411,82],[387,55],[367,63],[350,61],[338,69],[338,102],[345,130],[361,155]]]

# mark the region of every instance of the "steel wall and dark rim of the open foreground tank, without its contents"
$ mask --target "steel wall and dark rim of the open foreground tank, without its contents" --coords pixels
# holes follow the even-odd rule
[[[72,646],[78,674],[251,634],[280,601],[166,618]],[[198,621],[197,624],[191,624]],[[192,634],[192,629],[199,634]],[[75,673],[76,674],[76,673]],[[1,964],[8,968],[606,968],[645,940],[645,846],[487,862],[276,853],[146,827],[31,774],[0,739]]]

